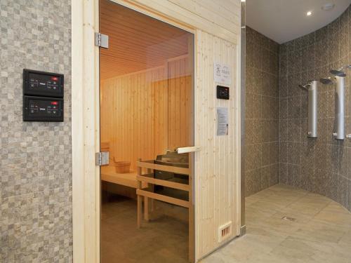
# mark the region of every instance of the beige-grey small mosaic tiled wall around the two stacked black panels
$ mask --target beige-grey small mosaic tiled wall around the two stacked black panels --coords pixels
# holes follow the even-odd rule
[[[72,262],[69,0],[0,0],[0,262]],[[22,121],[22,69],[65,74],[65,121]]]

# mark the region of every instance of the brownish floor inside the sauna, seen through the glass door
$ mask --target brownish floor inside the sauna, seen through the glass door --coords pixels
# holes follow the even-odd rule
[[[122,196],[102,203],[101,263],[187,263],[187,221],[153,213],[154,220],[137,229],[136,211],[136,201]]]

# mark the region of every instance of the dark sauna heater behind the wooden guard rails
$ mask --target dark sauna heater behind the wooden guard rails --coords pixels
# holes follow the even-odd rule
[[[155,163],[162,166],[189,168],[189,154],[177,154],[176,152],[167,151],[166,154],[158,155]],[[189,184],[188,175],[179,175],[176,173],[155,170],[154,177],[159,180],[168,180],[171,182],[178,182],[180,184]],[[165,196],[180,198],[185,201],[189,200],[189,194],[187,191],[163,187],[161,185],[155,185],[154,191],[155,193],[163,194]]]

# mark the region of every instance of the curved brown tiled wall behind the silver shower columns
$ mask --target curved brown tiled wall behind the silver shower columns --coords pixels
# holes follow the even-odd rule
[[[351,63],[350,7],[331,24],[280,46],[280,182],[329,196],[351,210],[351,140],[335,140],[334,87],[319,84],[318,137],[307,138],[307,93],[299,83]],[[347,72],[345,133],[351,133]]]

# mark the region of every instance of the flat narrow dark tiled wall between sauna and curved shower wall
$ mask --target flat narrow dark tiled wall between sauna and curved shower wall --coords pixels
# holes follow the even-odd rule
[[[246,27],[245,195],[279,181],[279,45]]]

